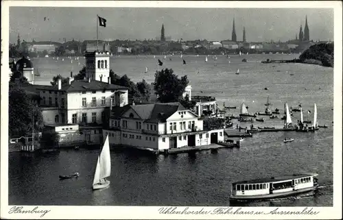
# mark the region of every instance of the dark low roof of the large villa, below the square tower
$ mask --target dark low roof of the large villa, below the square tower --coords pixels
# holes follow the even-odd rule
[[[41,90],[58,90],[58,86],[42,86]],[[108,84],[97,80],[73,80],[71,84],[62,84],[60,91],[76,92],[76,91],[94,91],[94,90],[116,90],[128,89],[125,86],[118,86],[115,84]]]

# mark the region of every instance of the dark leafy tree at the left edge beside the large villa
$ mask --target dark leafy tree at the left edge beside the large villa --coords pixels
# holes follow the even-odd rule
[[[42,112],[36,103],[25,93],[23,88],[20,86],[10,86],[8,99],[10,136],[31,135],[33,126],[36,132],[42,130]],[[34,123],[32,120],[34,120]]]

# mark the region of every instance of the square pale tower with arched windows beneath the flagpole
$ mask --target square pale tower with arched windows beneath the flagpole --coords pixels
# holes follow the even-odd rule
[[[108,82],[110,76],[110,52],[86,52],[86,77],[91,80]]]

